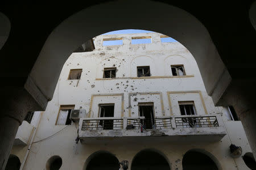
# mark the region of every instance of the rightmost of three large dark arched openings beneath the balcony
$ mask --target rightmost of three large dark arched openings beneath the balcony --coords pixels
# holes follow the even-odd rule
[[[204,150],[189,150],[182,159],[183,170],[220,170],[217,159]]]

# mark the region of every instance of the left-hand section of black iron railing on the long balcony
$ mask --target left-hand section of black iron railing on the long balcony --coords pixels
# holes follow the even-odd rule
[[[112,130],[123,129],[123,119],[101,117],[97,119],[82,120],[81,130]]]

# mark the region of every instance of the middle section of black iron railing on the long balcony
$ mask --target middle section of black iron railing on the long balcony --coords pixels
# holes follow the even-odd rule
[[[128,129],[163,129],[172,128],[171,117],[168,118],[127,118]]]

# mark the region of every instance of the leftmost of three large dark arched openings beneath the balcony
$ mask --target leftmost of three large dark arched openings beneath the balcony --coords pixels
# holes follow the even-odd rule
[[[108,151],[94,152],[86,160],[84,170],[118,170],[118,159]]]

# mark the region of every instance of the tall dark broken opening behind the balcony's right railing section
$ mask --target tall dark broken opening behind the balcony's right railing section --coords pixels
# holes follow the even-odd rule
[[[195,115],[196,109],[193,101],[179,101],[181,115]],[[184,128],[190,126],[191,128],[197,127],[196,117],[183,117],[181,119],[184,122]]]

